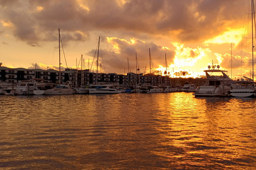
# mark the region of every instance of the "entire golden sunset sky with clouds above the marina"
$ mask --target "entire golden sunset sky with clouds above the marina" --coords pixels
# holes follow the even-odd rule
[[[85,68],[88,62],[91,67],[100,36],[105,73],[127,73],[127,58],[135,72],[135,53],[140,72],[148,73],[150,48],[154,69],[165,70],[166,54],[169,72],[201,75],[213,61],[230,76],[232,47],[232,77],[252,77],[251,0],[0,0],[0,5],[3,66],[57,69],[60,28],[67,65],[74,69],[81,55]],[[61,63],[66,67],[63,55]]]

